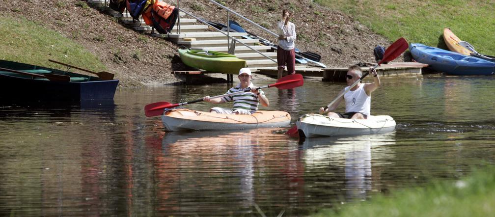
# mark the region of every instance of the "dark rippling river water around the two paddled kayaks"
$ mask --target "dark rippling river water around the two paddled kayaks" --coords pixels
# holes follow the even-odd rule
[[[382,82],[372,114],[394,117],[395,132],[301,141],[283,134],[289,127],[167,133],[144,115],[149,103],[221,95],[228,84],[121,89],[110,104],[1,107],[0,215],[304,216],[494,163],[495,77]],[[269,109],[289,111],[294,124],[343,86],[306,80],[265,93]]]

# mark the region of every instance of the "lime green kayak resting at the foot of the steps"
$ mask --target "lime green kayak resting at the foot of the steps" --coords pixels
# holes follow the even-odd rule
[[[247,66],[246,60],[221,52],[179,49],[179,54],[184,64],[210,72],[238,74]]]

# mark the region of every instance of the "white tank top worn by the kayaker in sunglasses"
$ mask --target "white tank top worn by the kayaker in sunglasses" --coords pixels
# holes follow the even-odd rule
[[[347,91],[349,87],[344,90]],[[361,112],[366,115],[371,115],[371,97],[364,91],[364,84],[359,85],[357,90],[348,91],[344,95],[346,100],[346,112]]]

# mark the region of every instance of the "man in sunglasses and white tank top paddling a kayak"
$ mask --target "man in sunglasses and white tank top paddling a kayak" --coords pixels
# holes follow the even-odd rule
[[[328,116],[351,118],[351,119],[367,119],[371,115],[371,93],[380,87],[380,78],[374,68],[370,68],[369,72],[373,76],[373,83],[358,83],[352,87],[344,96],[337,99],[328,109],[320,108],[320,114],[328,112]],[[339,96],[346,92],[349,87],[354,84],[363,75],[361,67],[352,65],[347,70],[346,81],[347,87],[344,88]],[[331,112],[340,105],[342,101],[346,102],[346,113]]]

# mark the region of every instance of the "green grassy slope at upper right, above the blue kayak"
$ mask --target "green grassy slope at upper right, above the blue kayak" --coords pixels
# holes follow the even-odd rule
[[[374,32],[395,41],[446,48],[444,28],[482,54],[495,55],[495,4],[484,0],[316,0],[351,14]]]

